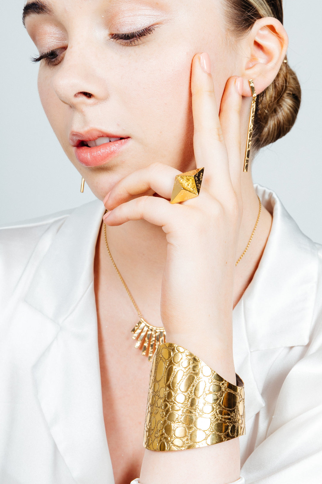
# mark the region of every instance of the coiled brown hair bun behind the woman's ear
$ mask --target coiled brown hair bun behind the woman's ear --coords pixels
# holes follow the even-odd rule
[[[285,136],[294,125],[301,104],[301,87],[287,62],[272,84],[257,96],[253,148],[257,151]]]

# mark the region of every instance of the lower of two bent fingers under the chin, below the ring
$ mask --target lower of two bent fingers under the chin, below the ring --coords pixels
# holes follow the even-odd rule
[[[150,224],[164,227],[166,233],[175,226],[177,213],[185,210],[184,206],[171,205],[164,198],[138,197],[122,203],[104,215],[103,221],[109,226],[125,224],[129,220],[144,219]]]

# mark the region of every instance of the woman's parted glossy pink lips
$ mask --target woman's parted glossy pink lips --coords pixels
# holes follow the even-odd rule
[[[84,146],[86,141],[92,141],[100,137],[123,138],[117,141],[110,141],[100,146]],[[70,134],[70,144],[74,146],[77,160],[84,166],[100,166],[107,163],[116,156],[130,140],[127,136],[102,132],[91,129],[83,133],[72,132]]]

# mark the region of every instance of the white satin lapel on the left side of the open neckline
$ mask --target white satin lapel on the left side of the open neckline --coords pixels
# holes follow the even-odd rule
[[[43,415],[79,484],[114,482],[102,411],[93,277],[104,211],[95,201],[66,218],[25,299],[42,315],[44,326],[53,326],[33,372]]]

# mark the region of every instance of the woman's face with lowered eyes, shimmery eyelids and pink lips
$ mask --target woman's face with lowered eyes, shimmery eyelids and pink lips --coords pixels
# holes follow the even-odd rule
[[[36,13],[29,9],[26,28],[40,54],[54,50],[40,65],[42,106],[98,198],[155,161],[195,167],[192,59],[210,54],[219,101],[228,77],[238,75],[220,3],[43,0]],[[140,31],[140,38],[126,35]],[[126,139],[98,139],[107,137]]]

